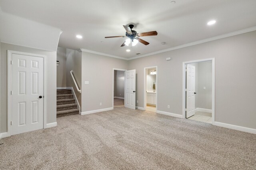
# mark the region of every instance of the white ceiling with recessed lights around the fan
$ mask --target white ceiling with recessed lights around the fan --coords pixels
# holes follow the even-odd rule
[[[131,58],[256,26],[256,0],[0,0],[2,12],[59,28],[59,46]],[[215,25],[207,25],[216,20]],[[122,25],[135,23],[149,45],[120,47]],[[76,35],[82,35],[77,39]],[[165,45],[161,45],[166,42]],[[128,53],[126,49],[130,48]]]

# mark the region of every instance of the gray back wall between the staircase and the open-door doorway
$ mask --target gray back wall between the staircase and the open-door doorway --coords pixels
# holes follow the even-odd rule
[[[82,51],[82,111],[112,107],[113,68],[127,69],[126,60]],[[102,103],[102,106],[100,106]]]

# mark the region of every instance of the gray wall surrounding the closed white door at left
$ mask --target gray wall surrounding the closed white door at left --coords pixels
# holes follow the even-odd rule
[[[56,51],[1,43],[1,133],[7,132],[7,50],[46,55],[47,122],[56,122]]]

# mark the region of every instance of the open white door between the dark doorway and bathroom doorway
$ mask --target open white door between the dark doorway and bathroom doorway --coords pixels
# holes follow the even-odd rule
[[[124,107],[136,109],[136,70],[125,72]]]

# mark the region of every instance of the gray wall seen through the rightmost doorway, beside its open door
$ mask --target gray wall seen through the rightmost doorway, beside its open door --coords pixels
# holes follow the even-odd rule
[[[212,62],[200,62],[197,67],[198,86],[196,91],[196,107],[212,109]],[[206,90],[204,90],[206,87]]]

